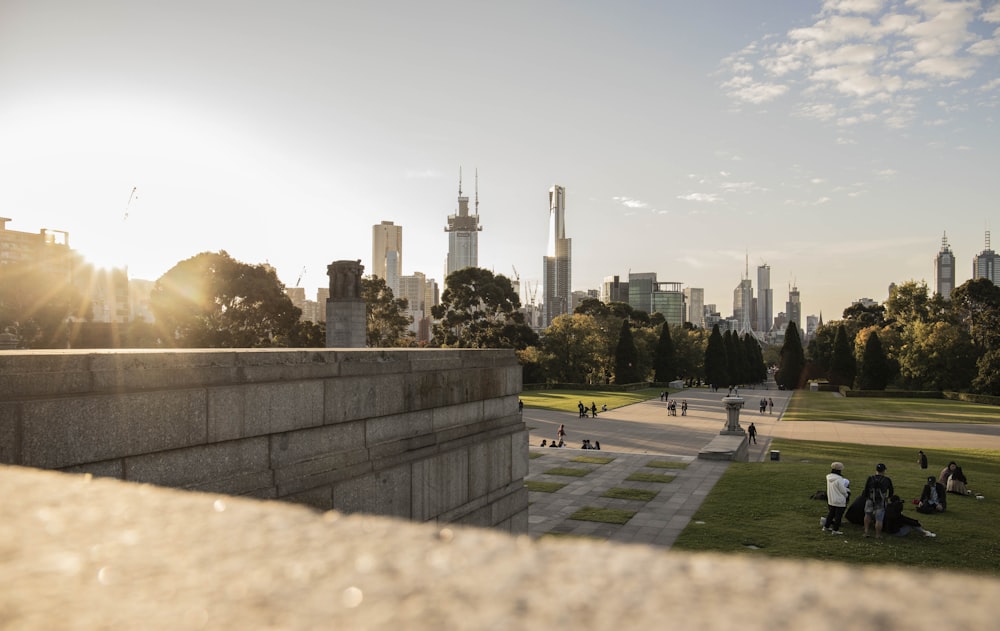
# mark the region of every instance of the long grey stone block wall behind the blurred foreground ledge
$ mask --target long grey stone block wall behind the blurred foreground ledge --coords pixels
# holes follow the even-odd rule
[[[504,350],[0,354],[0,463],[527,531]]]

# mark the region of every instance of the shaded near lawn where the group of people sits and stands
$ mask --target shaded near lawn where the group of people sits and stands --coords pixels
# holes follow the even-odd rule
[[[920,497],[927,475],[937,475],[955,460],[969,477],[969,488],[1000,488],[1000,452],[972,449],[924,449],[930,468],[917,466],[916,450],[815,441],[776,439],[782,460],[732,463],[705,499],[673,548],[771,557],[817,559],[852,564],[891,564],[924,569],[1000,575],[1000,502],[992,493],[984,500],[948,495],[948,511],[922,515],[910,500]],[[844,476],[855,493],[864,488],[874,465],[884,462],[896,493],[906,502],[904,514],[937,533],[930,539],[911,533],[865,539],[862,527],[844,521],[843,537],[819,529],[826,503],[809,499],[825,489],[830,462],[844,463]],[[704,523],[696,523],[704,522]],[[756,546],[759,549],[751,549]]]

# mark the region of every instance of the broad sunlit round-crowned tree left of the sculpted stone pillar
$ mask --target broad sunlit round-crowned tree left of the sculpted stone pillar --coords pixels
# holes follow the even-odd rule
[[[153,286],[150,308],[165,346],[283,346],[300,309],[266,265],[248,265],[225,251],[181,261]]]

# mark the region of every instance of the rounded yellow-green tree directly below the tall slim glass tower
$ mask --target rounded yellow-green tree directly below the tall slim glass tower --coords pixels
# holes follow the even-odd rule
[[[539,361],[548,380],[589,383],[604,375],[600,331],[590,316],[556,317],[541,340]]]

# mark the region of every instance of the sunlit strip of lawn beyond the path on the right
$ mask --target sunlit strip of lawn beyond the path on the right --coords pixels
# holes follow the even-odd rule
[[[925,423],[1000,423],[994,405],[947,399],[892,399],[840,397],[832,392],[797,390],[785,421],[897,421]]]

